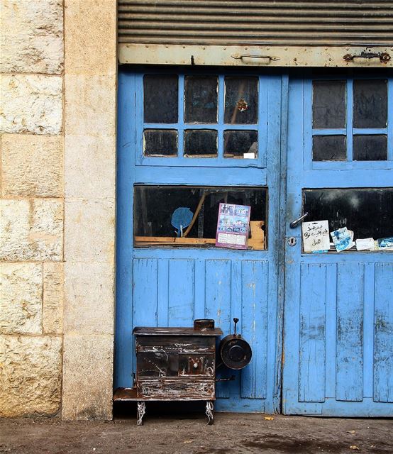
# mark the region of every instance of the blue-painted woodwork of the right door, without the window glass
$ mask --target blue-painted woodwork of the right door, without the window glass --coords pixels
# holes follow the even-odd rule
[[[289,228],[302,189],[392,187],[392,145],[384,162],[313,162],[311,102],[310,80],[292,79],[285,236],[297,244],[285,245],[282,410],[393,416],[393,254],[305,254],[300,226]],[[392,91],[388,103],[392,114]]]

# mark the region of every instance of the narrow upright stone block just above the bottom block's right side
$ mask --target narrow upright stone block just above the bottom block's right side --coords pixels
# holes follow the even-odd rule
[[[85,290],[88,287],[85,287]],[[43,331],[62,333],[62,312],[64,299],[63,264],[43,264]]]

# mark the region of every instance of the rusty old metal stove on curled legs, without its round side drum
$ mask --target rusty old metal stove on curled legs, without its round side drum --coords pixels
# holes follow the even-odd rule
[[[196,320],[194,328],[134,328],[136,382],[119,388],[115,401],[138,402],[138,426],[145,401],[206,400],[208,423],[214,422],[216,337],[214,320]]]

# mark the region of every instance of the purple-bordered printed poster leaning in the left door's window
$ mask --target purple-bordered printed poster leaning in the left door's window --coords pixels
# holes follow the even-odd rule
[[[247,205],[220,204],[216,233],[218,248],[247,249],[250,210]]]

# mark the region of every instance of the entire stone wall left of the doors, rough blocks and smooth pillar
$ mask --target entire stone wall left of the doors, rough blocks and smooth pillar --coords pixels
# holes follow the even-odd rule
[[[116,0],[0,8],[0,416],[111,419]]]

